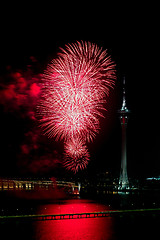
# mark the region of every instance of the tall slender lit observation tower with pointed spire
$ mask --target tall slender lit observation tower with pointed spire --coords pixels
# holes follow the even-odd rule
[[[120,178],[119,178],[119,187],[120,190],[125,190],[129,188],[129,181],[128,181],[128,174],[127,174],[127,139],[126,139],[126,132],[127,132],[127,123],[130,111],[126,105],[126,90],[125,90],[125,77],[123,78],[123,102],[122,107],[118,111],[120,121],[121,121],[121,128],[122,128],[122,149],[121,149],[121,171],[120,171]]]

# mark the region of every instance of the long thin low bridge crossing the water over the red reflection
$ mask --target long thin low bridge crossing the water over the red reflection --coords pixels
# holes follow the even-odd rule
[[[160,214],[160,208],[110,210],[110,211],[105,211],[105,212],[91,212],[91,213],[0,216],[0,221],[3,221],[3,220],[39,220],[39,221],[65,220],[65,219],[113,217],[113,216],[123,216],[126,214],[141,214],[141,215],[142,214]]]

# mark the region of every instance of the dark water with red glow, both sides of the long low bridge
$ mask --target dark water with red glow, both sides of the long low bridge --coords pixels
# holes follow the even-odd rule
[[[136,200],[137,199],[137,200]],[[21,214],[58,214],[95,212],[118,208],[137,208],[141,206],[159,207],[159,198],[149,201],[143,196],[108,196],[103,201],[85,199],[61,200],[53,203],[10,203],[1,205],[4,212]],[[112,204],[113,203],[113,204]],[[141,206],[140,206],[141,205]],[[18,208],[19,206],[19,208]],[[8,209],[8,210],[7,210]],[[12,212],[13,211],[13,212]],[[160,216],[157,214],[70,219],[56,221],[1,221],[0,239],[4,240],[132,240],[157,239],[160,231]]]

